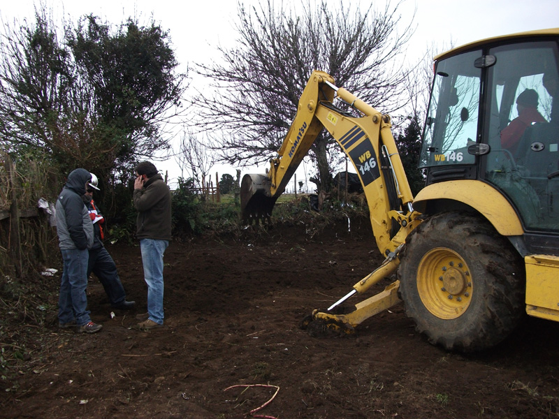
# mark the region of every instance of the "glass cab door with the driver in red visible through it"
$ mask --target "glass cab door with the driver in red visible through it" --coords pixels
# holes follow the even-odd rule
[[[481,179],[514,204],[527,231],[559,233],[556,41],[490,48]],[[545,240],[540,237],[539,240]]]

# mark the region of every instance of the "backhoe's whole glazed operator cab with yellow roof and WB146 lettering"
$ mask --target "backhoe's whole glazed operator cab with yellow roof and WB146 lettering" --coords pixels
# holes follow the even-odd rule
[[[530,251],[559,244],[558,40],[559,29],[534,31],[437,57],[419,163],[427,184],[493,184],[516,207]]]

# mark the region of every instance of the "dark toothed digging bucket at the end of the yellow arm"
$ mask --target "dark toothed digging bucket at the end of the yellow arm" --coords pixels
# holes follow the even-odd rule
[[[269,221],[277,198],[270,193],[270,178],[266,175],[245,175],[240,182],[240,210],[247,223]]]

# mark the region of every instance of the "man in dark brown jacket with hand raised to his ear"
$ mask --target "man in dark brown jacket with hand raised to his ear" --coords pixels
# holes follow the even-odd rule
[[[170,191],[150,161],[136,167],[133,202],[138,211],[136,236],[140,240],[144,279],[147,284],[147,313],[138,316],[138,328],[163,325],[163,256],[171,239]]]

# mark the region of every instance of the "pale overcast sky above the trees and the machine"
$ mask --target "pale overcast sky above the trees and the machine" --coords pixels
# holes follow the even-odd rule
[[[34,3],[38,1],[0,0],[0,17],[4,23],[11,23],[14,18],[32,19]],[[233,45],[236,37],[235,0],[43,0],[43,3],[54,11],[55,19],[69,15],[75,20],[92,13],[113,23],[136,16],[141,24],[153,15],[155,22],[169,31],[177,59],[182,64],[219,59],[215,46],[218,43]],[[242,3],[257,6],[259,0]],[[276,5],[281,3],[281,0],[275,1]],[[284,0],[283,3],[298,5],[300,1]],[[337,7],[340,0],[327,0],[326,3]],[[343,0],[343,3],[361,3],[361,8],[373,3],[378,5],[377,8],[384,8],[385,1]],[[397,3],[391,1],[392,6]],[[558,0],[402,0],[398,10],[403,24],[414,19],[415,33],[407,48],[410,59],[421,57],[430,45],[446,47],[453,43],[459,46],[491,36],[559,27]],[[165,166],[168,166],[171,177],[180,175],[180,171],[172,167],[173,162]],[[223,172],[235,175],[234,168],[220,167],[219,176]]]

